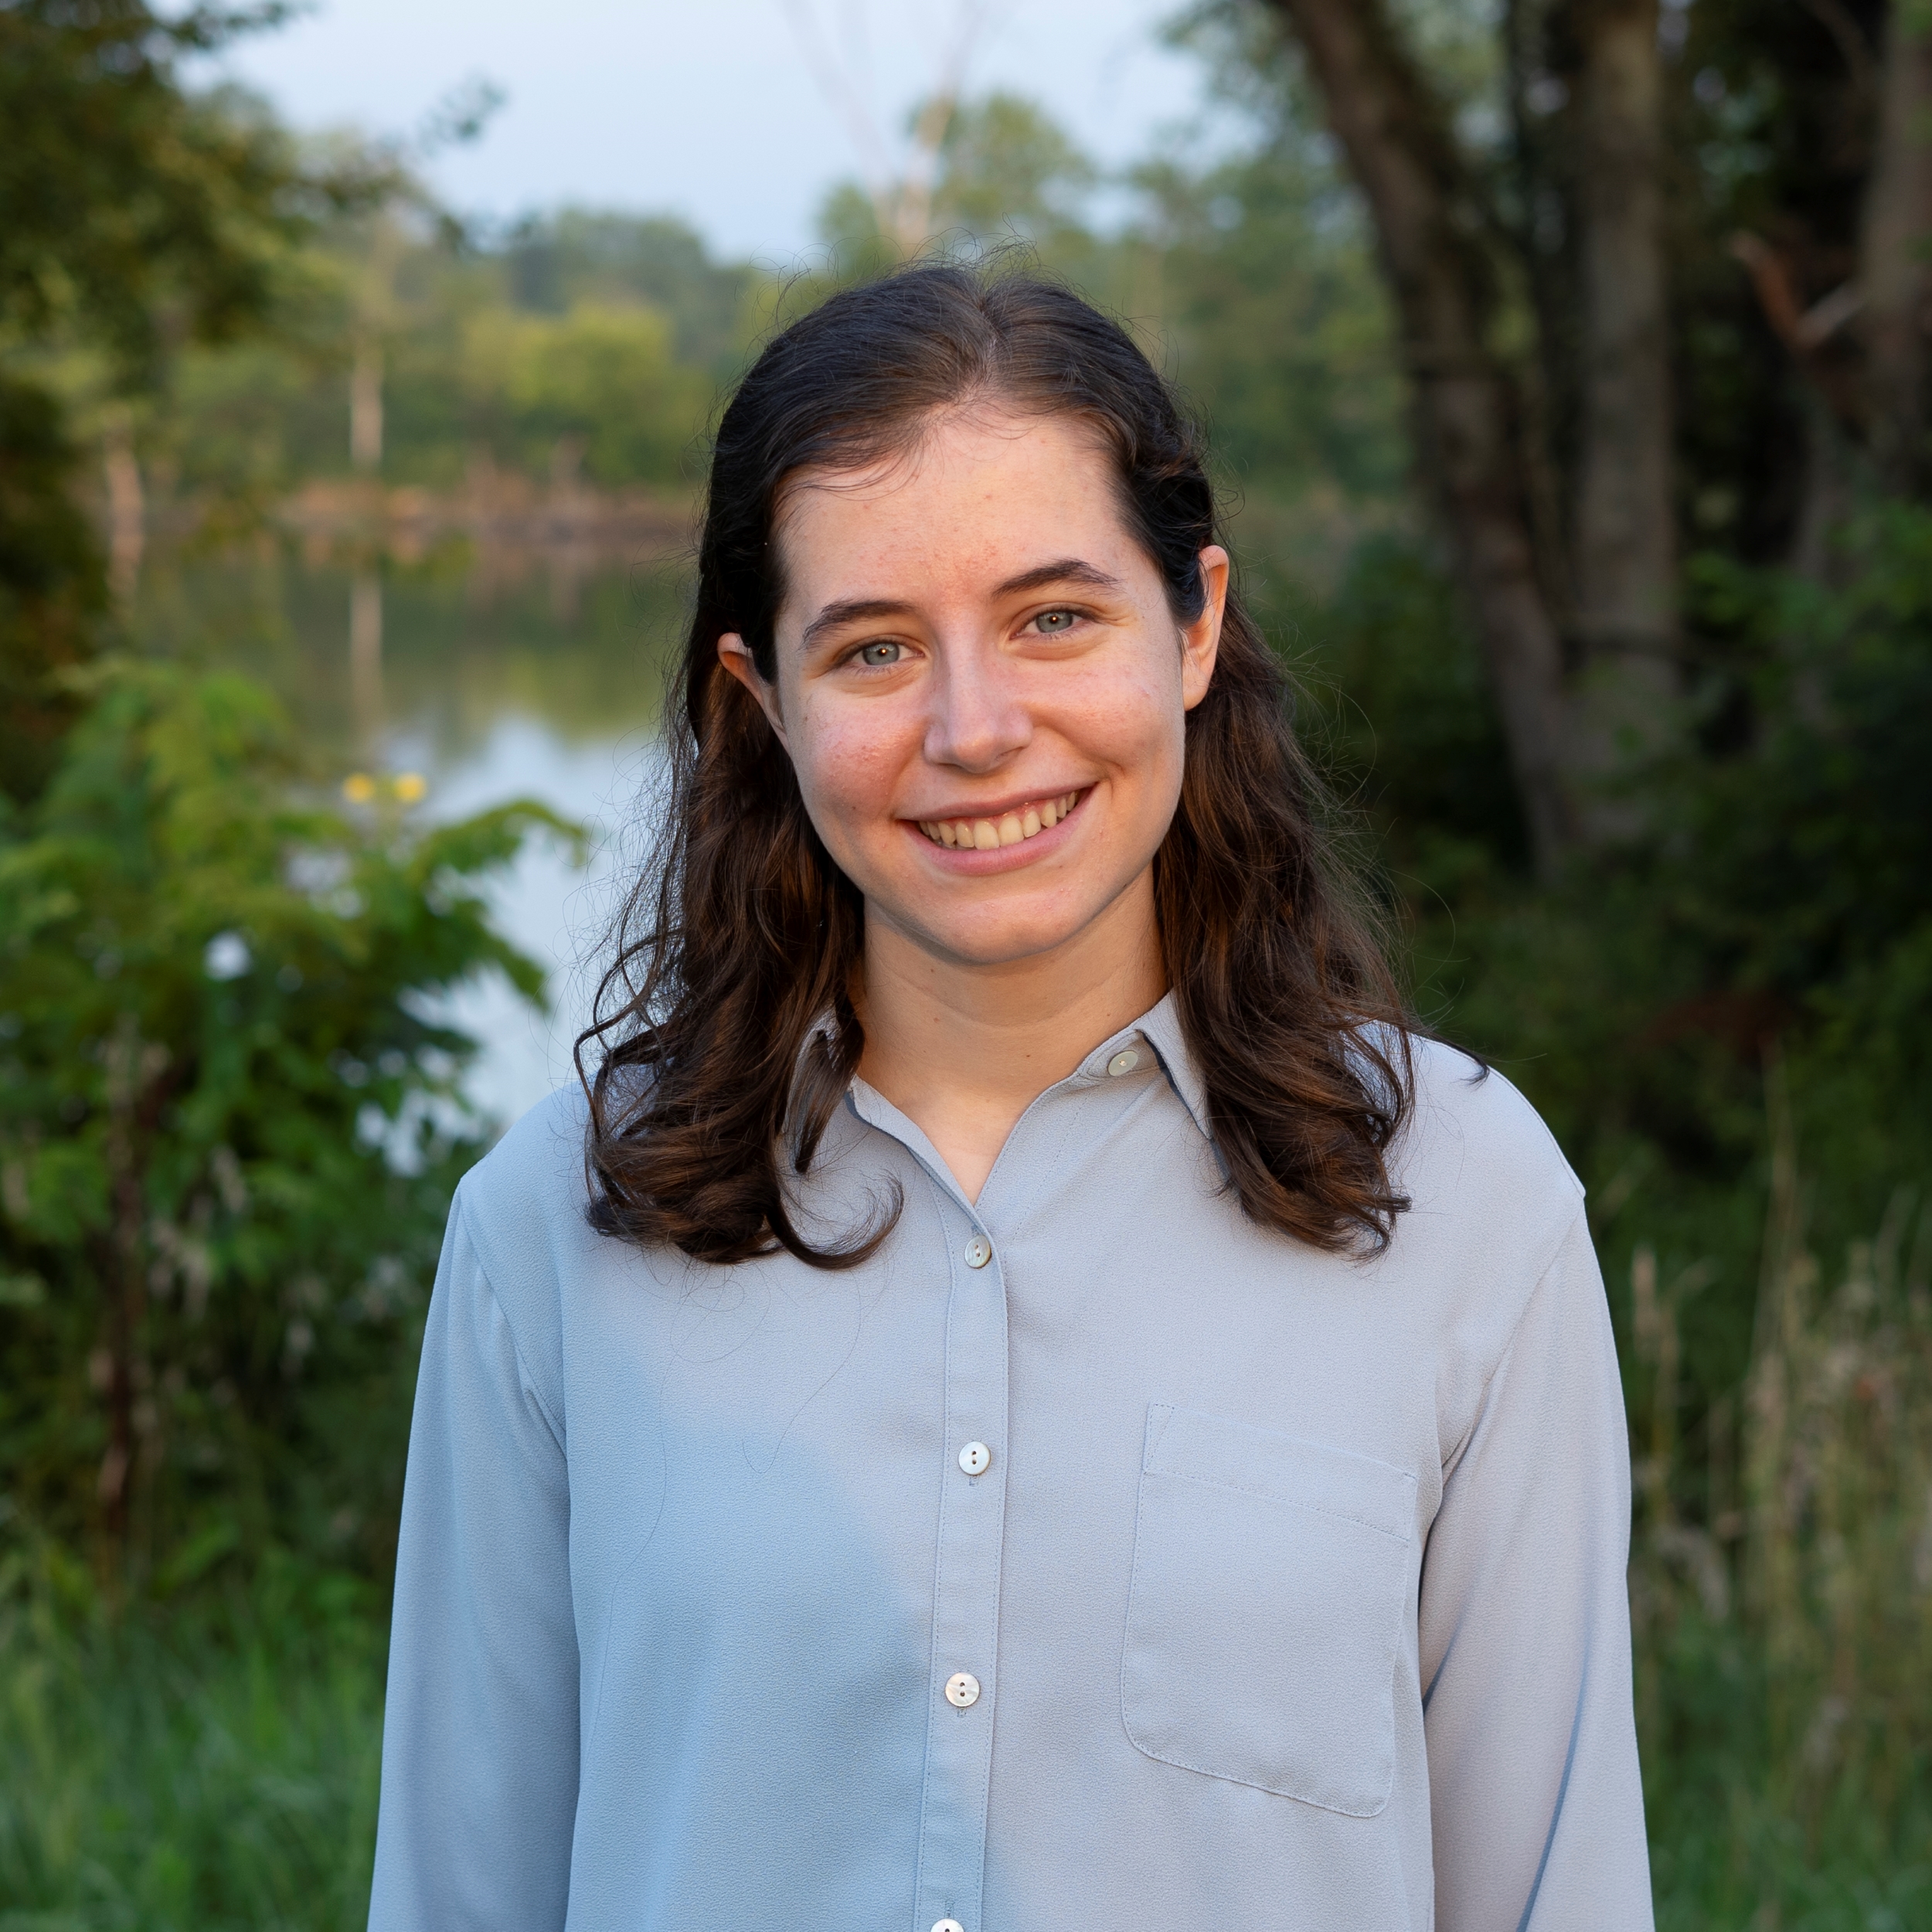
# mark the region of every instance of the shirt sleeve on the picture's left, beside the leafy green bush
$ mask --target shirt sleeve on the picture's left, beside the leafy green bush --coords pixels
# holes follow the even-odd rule
[[[578,1642],[554,1406],[458,1196],[410,1430],[371,1932],[564,1924]]]

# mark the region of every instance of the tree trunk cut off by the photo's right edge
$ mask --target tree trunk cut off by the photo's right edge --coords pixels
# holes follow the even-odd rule
[[[1859,284],[1872,454],[1907,495],[1926,477],[1926,327],[1932,323],[1932,27],[1891,0],[1878,145],[1864,191]]]

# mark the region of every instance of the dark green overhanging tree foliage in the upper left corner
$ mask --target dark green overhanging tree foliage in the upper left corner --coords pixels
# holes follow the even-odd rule
[[[75,454],[35,352],[85,348],[116,394],[184,342],[274,307],[290,243],[369,184],[309,174],[267,118],[182,83],[184,56],[284,10],[0,0],[0,786],[25,800],[75,717],[58,672],[99,645],[99,547],[71,512]]]

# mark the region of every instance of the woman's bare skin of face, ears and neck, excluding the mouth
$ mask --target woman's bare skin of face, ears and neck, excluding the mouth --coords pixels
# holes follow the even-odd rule
[[[976,1200],[1034,1095],[1165,991],[1153,854],[1227,553],[1202,551],[1206,609],[1179,624],[1092,435],[983,408],[914,460],[802,477],[777,541],[777,680],[736,636],[719,657],[866,896],[862,1072]],[[999,850],[918,829],[1065,792],[1068,817]]]

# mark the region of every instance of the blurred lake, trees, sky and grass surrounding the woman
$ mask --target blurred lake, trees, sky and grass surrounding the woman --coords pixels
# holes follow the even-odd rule
[[[1590,1186],[1660,1924],[1932,1924],[1917,0],[0,0],[0,1928],[363,1922],[442,1215],[570,1078],[707,425],[1001,245],[1206,421]]]

